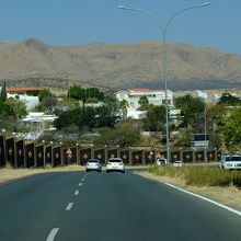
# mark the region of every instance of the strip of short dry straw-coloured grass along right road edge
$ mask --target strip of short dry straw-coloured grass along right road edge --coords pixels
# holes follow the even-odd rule
[[[205,197],[211,198],[216,202],[225,204],[229,207],[233,207],[241,210],[241,190],[236,186],[191,186],[185,185],[185,180],[182,177],[169,177],[169,176],[158,176],[150,172],[136,172],[141,176],[156,180],[163,183],[171,183],[190,192],[200,194]]]

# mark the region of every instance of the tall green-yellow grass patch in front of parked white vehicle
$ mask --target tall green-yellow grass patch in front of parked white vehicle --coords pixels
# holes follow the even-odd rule
[[[158,176],[181,179],[192,186],[237,186],[241,187],[241,172],[219,170],[210,167],[186,165],[150,167],[148,171]]]

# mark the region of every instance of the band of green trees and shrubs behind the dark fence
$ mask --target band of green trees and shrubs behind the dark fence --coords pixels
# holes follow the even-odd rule
[[[67,94],[56,96],[44,89],[32,93],[39,99],[34,111],[55,114],[55,131],[44,133],[37,141],[46,140],[110,146],[153,146],[165,147],[165,106],[149,104],[147,97],[139,99],[142,119],[127,117],[128,103],[118,102],[114,93],[102,92],[97,88],[70,85]],[[21,118],[27,112],[18,99],[7,99],[5,88],[0,95],[0,128],[7,135],[31,133],[31,125],[23,126]],[[210,148],[230,153],[241,151],[241,101],[225,93],[218,103],[207,104],[203,99],[190,94],[174,99],[174,107],[181,111],[175,118],[170,114],[171,146],[173,150],[190,149],[194,134],[206,131]],[[28,129],[27,129],[28,128]]]

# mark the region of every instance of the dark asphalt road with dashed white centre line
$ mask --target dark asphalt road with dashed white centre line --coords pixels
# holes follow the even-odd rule
[[[241,240],[241,217],[133,174],[58,172],[0,185],[1,241]]]

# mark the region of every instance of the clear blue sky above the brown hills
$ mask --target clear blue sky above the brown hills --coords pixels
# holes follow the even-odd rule
[[[146,14],[116,5],[145,9],[164,26],[179,10],[208,0],[0,0],[0,42],[39,38],[51,45],[126,44],[162,39]],[[175,18],[167,39],[241,55],[241,1],[209,0],[208,8]]]

